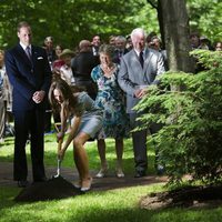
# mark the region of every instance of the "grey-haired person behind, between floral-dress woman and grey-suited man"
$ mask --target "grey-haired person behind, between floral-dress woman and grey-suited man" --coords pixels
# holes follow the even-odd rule
[[[120,60],[123,54],[128,53],[125,49],[127,39],[123,36],[115,37],[115,50],[113,56],[113,62],[120,64]]]

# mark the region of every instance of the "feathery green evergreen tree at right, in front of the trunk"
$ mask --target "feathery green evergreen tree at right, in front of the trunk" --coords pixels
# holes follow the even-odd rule
[[[137,109],[145,110],[144,125],[163,124],[149,141],[160,151],[170,182],[181,182],[189,173],[193,181],[211,184],[222,176],[222,54],[200,50],[192,54],[205,71],[163,74],[161,85],[149,88]],[[170,90],[172,84],[184,90]]]

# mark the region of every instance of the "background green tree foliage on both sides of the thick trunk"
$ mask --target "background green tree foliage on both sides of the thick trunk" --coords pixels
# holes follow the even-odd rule
[[[220,0],[186,0],[192,30],[212,40],[221,38],[221,4]],[[0,46],[17,42],[16,27],[22,20],[32,26],[38,44],[53,36],[57,43],[75,47],[95,33],[107,40],[110,34],[127,36],[135,27],[159,33],[157,7],[158,0],[1,0]]]

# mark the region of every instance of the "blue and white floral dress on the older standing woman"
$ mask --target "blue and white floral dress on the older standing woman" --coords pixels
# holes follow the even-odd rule
[[[121,139],[128,135],[129,119],[125,113],[124,94],[117,80],[119,67],[110,78],[103,74],[100,65],[93,68],[91,78],[98,84],[95,104],[103,110],[103,128],[99,139]]]

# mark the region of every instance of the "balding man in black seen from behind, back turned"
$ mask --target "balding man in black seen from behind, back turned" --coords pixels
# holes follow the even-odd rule
[[[91,79],[91,71],[98,64],[92,54],[92,46],[89,40],[81,40],[79,53],[72,58],[71,68],[75,84],[84,87],[88,94],[94,100],[97,97],[97,84]]]

